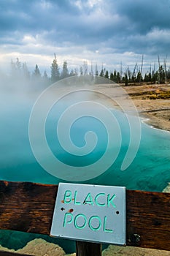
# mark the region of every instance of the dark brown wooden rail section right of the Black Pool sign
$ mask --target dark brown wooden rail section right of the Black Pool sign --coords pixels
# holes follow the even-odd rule
[[[170,194],[127,190],[126,198],[127,245],[170,250]]]

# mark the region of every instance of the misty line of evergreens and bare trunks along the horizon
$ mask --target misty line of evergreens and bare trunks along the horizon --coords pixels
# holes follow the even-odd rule
[[[159,60],[159,59],[158,59]],[[143,59],[142,59],[143,61]],[[45,85],[48,86],[51,83],[55,83],[58,80],[63,78],[69,78],[73,75],[96,75],[104,78],[108,78],[115,83],[124,83],[127,86],[129,83],[166,83],[167,80],[170,80],[170,69],[166,69],[166,64],[158,65],[158,69],[155,70],[155,66],[150,71],[146,72],[142,75],[142,66],[139,68],[136,64],[134,70],[131,71],[128,67],[125,71],[122,71],[120,67],[120,71],[116,69],[114,72],[109,72],[104,67],[101,68],[101,71],[98,72],[97,64],[95,66],[95,70],[93,70],[93,66],[91,64],[90,70],[88,70],[88,62],[84,61],[82,66],[78,69],[71,69],[69,72],[67,61],[63,61],[62,69],[58,66],[58,60],[56,55],[54,54],[53,62],[50,66],[50,76],[47,75],[46,70],[43,75],[39,71],[39,66],[36,64],[34,72],[29,72],[26,62],[21,63],[21,61],[17,58],[16,61],[11,61],[11,72],[10,76],[12,78],[24,78],[26,80],[31,80],[32,82],[37,82],[38,80]]]

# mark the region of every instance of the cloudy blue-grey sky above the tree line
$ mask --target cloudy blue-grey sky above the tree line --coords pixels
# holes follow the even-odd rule
[[[0,70],[19,58],[50,73],[88,61],[109,71],[170,62],[170,0],[0,0]]]

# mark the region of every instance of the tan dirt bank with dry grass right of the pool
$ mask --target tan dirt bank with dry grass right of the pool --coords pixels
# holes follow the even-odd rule
[[[146,118],[148,124],[158,129],[170,131],[169,84],[122,86],[122,91],[120,91],[118,87],[120,87],[120,85],[116,87],[112,86],[112,84],[100,84],[97,85],[95,89],[101,92],[101,94],[107,95],[108,104],[110,103],[111,105],[114,104],[113,101],[117,99],[120,105],[131,108],[131,106],[128,105],[128,99],[130,97],[136,109],[139,111],[139,116]],[[110,101],[108,100],[108,96],[111,99]]]

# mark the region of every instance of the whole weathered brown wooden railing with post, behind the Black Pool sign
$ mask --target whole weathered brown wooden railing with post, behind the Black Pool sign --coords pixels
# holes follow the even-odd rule
[[[0,229],[49,235],[57,192],[58,185],[0,181]],[[127,246],[170,250],[169,193],[127,190],[126,209]],[[77,256],[101,255],[101,244],[76,243]]]

